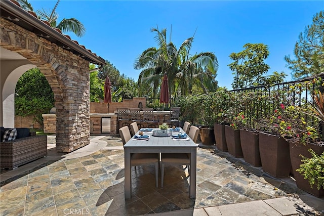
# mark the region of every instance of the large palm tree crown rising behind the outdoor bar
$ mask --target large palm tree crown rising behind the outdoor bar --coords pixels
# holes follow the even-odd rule
[[[193,85],[204,87],[205,91],[214,91],[217,86],[215,77],[218,69],[216,56],[205,52],[189,57],[193,37],[184,40],[177,49],[171,38],[170,42],[167,42],[166,31],[151,29],[151,32],[156,33],[154,38],[159,48],[149,48],[135,60],[134,68],[142,69],[138,84],[150,84],[155,97],[162,77],[167,73],[170,93],[174,96],[178,90],[181,90],[181,95],[191,93]]]

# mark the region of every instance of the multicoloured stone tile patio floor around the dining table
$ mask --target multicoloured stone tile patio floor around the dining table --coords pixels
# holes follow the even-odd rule
[[[63,156],[63,157],[62,157]],[[120,138],[93,136],[72,153],[48,156],[2,170],[0,215],[322,215],[324,198],[276,179],[216,146],[197,148],[196,198],[188,172],[166,166],[164,188],[155,188],[154,167],[132,167],[132,198],[124,197],[124,150]],[[159,174],[160,184],[160,174]]]

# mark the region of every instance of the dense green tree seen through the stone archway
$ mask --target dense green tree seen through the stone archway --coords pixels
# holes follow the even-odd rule
[[[27,70],[18,80],[15,91],[16,116],[33,116],[43,126],[43,113],[54,106],[50,84],[38,68]]]

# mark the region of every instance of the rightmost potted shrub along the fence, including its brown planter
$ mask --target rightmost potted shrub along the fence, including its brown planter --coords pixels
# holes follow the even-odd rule
[[[297,187],[314,196],[323,197],[323,188],[312,187],[314,177],[311,175],[316,170],[311,163],[319,158],[317,155],[324,152],[324,140],[319,129],[324,122],[324,95],[314,92],[312,99],[313,103],[308,103],[307,109],[288,107],[285,111],[290,113],[290,118],[281,119],[279,129],[281,136],[290,144],[291,164]],[[321,163],[318,164],[320,166]],[[318,179],[324,178],[323,172],[317,172],[317,175]]]

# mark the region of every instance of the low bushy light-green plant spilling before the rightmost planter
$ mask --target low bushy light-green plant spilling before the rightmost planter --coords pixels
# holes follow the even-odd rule
[[[324,152],[321,155],[317,155],[312,149],[308,149],[308,151],[312,157],[307,158],[300,155],[302,157],[302,164],[296,171],[308,180],[311,188],[316,185],[318,190],[324,189]]]

